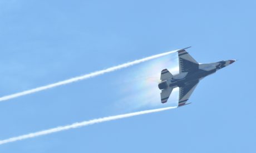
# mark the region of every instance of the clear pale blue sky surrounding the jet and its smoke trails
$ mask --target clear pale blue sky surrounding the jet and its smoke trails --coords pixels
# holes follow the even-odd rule
[[[190,45],[200,63],[238,62],[202,80],[191,105],[13,142],[0,152],[255,152],[255,5],[2,0],[1,96]],[[134,78],[155,62],[4,101],[0,139],[154,108],[134,106],[151,95]]]

